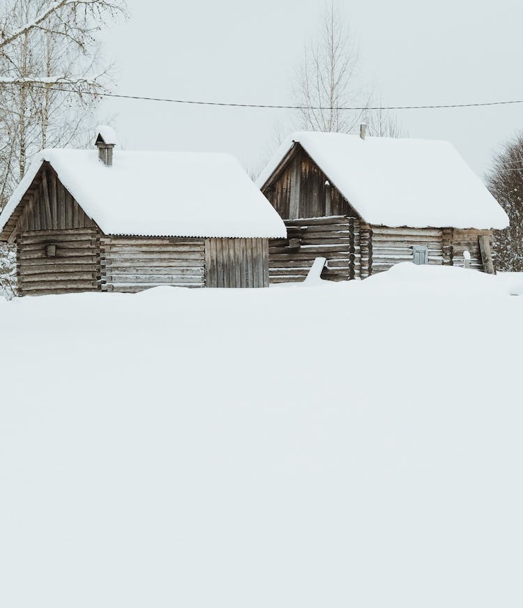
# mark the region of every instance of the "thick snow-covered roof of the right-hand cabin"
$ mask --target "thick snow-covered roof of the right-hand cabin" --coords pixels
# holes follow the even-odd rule
[[[370,224],[501,229],[508,216],[449,142],[296,132],[257,179],[271,178],[301,144],[328,180]]]

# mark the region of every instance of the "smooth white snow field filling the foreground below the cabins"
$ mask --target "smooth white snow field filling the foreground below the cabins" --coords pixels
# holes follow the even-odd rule
[[[522,292],[0,301],[0,606],[520,608]]]

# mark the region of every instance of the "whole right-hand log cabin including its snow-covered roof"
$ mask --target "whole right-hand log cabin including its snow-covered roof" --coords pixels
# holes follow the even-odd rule
[[[494,272],[508,218],[448,142],[298,132],[257,180],[287,226],[269,243],[271,282],[348,280],[401,261]],[[467,251],[470,254],[467,254]]]

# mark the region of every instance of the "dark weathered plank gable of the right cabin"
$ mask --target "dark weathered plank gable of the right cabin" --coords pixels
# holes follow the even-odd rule
[[[300,144],[261,189],[284,220],[358,214]]]

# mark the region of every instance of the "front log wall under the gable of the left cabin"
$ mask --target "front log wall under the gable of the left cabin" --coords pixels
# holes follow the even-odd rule
[[[99,232],[95,228],[24,231],[17,238],[21,296],[96,291],[100,286]],[[55,245],[47,249],[49,245]],[[49,253],[54,255],[49,257]]]

